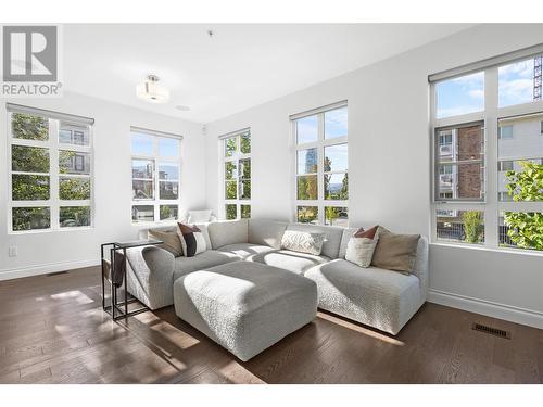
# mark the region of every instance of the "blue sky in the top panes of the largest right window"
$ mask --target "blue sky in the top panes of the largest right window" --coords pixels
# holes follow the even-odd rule
[[[444,80],[435,86],[438,118],[484,110],[484,73]],[[533,59],[498,68],[498,106],[533,100]]]

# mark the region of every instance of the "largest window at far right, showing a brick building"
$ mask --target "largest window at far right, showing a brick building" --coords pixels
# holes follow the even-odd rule
[[[432,89],[433,239],[543,250],[541,54]]]

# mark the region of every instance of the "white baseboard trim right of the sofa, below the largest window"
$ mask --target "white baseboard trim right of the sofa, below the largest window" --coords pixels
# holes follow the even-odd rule
[[[428,302],[543,329],[543,313],[430,289]]]

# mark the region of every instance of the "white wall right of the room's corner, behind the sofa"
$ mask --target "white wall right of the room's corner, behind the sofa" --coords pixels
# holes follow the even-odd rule
[[[350,221],[429,234],[429,74],[543,42],[543,25],[485,25],[207,125],[207,206],[218,209],[217,136],[251,127],[253,217],[293,219],[289,115],[349,101]],[[288,63],[288,61],[286,61]],[[432,245],[430,298],[543,328],[543,257]]]

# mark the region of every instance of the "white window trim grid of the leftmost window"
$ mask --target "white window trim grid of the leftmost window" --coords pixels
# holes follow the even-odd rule
[[[7,120],[7,135],[8,135],[8,234],[34,234],[34,233],[51,233],[51,232],[65,232],[73,230],[87,230],[94,228],[94,150],[93,150],[93,124],[94,120],[81,116],[73,116],[70,114],[34,109],[12,103],[7,103],[8,120]],[[14,113],[28,114],[47,118],[49,122],[49,137],[47,141],[39,140],[25,140],[13,137],[12,133],[12,115]],[[89,145],[75,145],[61,143],[59,141],[60,123],[88,126]],[[49,150],[49,173],[22,173],[28,175],[45,175],[49,176],[49,200],[40,201],[14,201],[12,190],[12,174],[17,171],[12,170],[12,145],[35,147]],[[89,175],[81,176],[81,178],[89,178],[90,180],[90,199],[89,200],[61,200],[59,190],[59,178],[62,176],[59,170],[59,151],[70,150],[90,155],[90,171]],[[66,175],[77,178],[77,175]],[[89,206],[90,207],[90,225],[77,227],[62,227],[60,226],[60,208],[67,206]],[[13,230],[13,208],[15,207],[49,207],[50,211],[50,227],[48,229],[30,229],[30,230]]]

